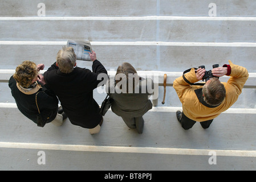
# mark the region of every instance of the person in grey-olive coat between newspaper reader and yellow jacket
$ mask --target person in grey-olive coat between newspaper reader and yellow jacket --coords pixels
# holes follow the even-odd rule
[[[152,109],[148,87],[153,86],[150,78],[137,75],[136,69],[129,63],[123,63],[117,68],[115,78],[109,79],[106,91],[112,98],[111,110],[119,115],[125,124],[143,133],[143,115]]]

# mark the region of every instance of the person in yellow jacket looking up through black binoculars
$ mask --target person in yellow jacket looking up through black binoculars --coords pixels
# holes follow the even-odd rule
[[[182,103],[182,113],[178,110],[176,115],[183,129],[192,128],[196,122],[207,129],[214,118],[237,101],[249,77],[246,68],[235,65],[230,60],[229,65],[213,68],[212,74],[215,77],[206,81],[204,86],[193,85],[205,75],[205,69],[202,68],[197,71],[192,68],[184,74],[186,81],[183,76],[174,80],[173,88]],[[230,76],[229,80],[220,82],[217,77],[224,75]]]

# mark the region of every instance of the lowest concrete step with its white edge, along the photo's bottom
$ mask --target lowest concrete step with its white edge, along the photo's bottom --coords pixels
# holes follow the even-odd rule
[[[56,150],[56,148],[63,149]],[[90,150],[91,148],[96,149],[96,151]],[[98,148],[100,151],[97,151]],[[113,152],[113,148],[119,152]],[[2,171],[84,170],[88,171],[88,173],[90,173],[89,171],[97,171],[97,173],[109,171],[112,174],[116,172],[111,171],[122,171],[119,173],[125,171],[130,171],[131,173],[139,171],[149,173],[147,171],[152,171],[151,173],[156,173],[156,171],[161,171],[160,176],[154,175],[153,178],[160,179],[162,176],[165,176],[165,171],[254,171],[256,166],[255,151],[216,150],[217,154],[221,153],[221,155],[216,156],[216,164],[209,164],[209,160],[212,160],[211,158],[213,157],[211,152],[215,152],[213,150],[186,149],[178,150],[181,154],[176,154],[177,149],[170,148],[167,149],[167,151],[170,151],[170,154],[148,154],[148,149],[155,152],[166,150],[165,148],[143,148],[143,152],[129,152],[133,149],[131,147],[122,148],[111,146],[66,146],[58,144],[49,146],[48,144],[40,145],[37,143],[7,143],[7,147],[1,147],[2,152],[0,156],[2,160],[0,162],[0,169]],[[182,153],[183,151],[184,153]],[[200,154],[201,151],[203,154]],[[45,163],[43,164],[40,162],[42,160],[41,152],[44,152],[45,156]],[[191,152],[194,153],[191,154]],[[188,153],[190,154],[188,155]],[[227,155],[225,155],[226,153]],[[238,155],[252,153],[253,155],[229,156],[231,153],[238,153]],[[107,174],[108,172],[103,173],[104,176]],[[104,176],[97,177],[104,179]]]

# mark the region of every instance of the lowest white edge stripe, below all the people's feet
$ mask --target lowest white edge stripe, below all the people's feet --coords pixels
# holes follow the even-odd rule
[[[83,152],[121,152],[142,154],[169,154],[169,155],[209,155],[215,151],[217,156],[256,157],[256,151],[246,150],[206,150],[191,148],[156,148],[156,147],[120,147],[120,146],[83,146],[74,144],[46,144],[46,143],[15,143],[0,142],[0,148],[21,148],[36,150],[61,150]]]

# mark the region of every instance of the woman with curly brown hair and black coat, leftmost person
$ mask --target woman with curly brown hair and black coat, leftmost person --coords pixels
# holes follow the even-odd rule
[[[66,115],[58,113],[58,98],[44,86],[42,75],[38,75],[43,68],[43,64],[36,65],[32,61],[23,61],[18,65],[9,80],[11,94],[19,111],[38,126],[36,116],[39,112],[46,123],[51,122],[60,126],[63,119],[66,119]]]

